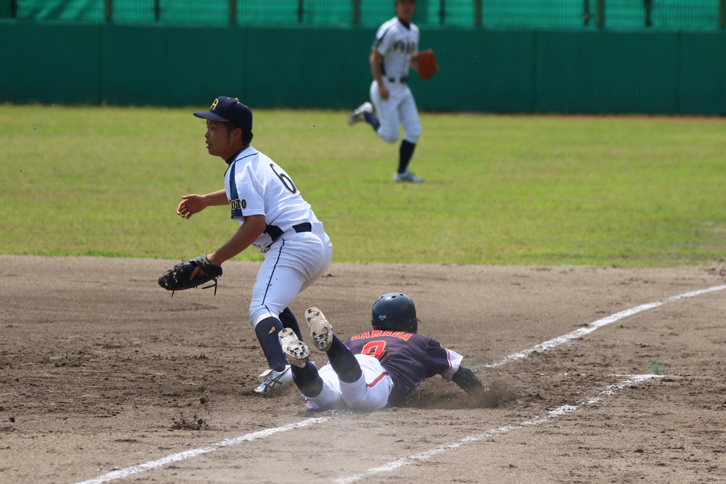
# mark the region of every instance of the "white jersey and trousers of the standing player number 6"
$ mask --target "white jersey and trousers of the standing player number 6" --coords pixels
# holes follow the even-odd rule
[[[265,233],[253,242],[265,255],[250,300],[254,327],[270,316],[279,318],[298,292],[325,274],[333,245],[293,179],[253,147],[237,153],[229,164],[224,189],[232,218],[240,225],[245,216],[253,215],[264,216],[267,224]],[[295,226],[308,223],[309,231],[295,231]]]

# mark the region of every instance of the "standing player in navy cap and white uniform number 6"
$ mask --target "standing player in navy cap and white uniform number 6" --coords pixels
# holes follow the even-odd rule
[[[293,179],[250,146],[252,111],[245,104],[218,97],[209,111],[194,115],[206,120],[209,154],[221,157],[229,168],[223,190],[184,195],[176,213],[189,218],[211,205],[231,207],[231,216],[240,227],[229,241],[207,255],[218,266],[250,245],[264,253],[250,300],[250,321],[269,364],[255,391],[266,393],[293,381],[277,334],[289,328],[301,337],[287,305],[325,274],[333,245]]]

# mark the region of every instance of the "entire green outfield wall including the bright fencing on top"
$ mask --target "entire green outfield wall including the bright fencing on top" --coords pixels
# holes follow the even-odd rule
[[[726,115],[725,2],[418,0],[441,70],[409,83],[422,110]],[[0,102],[350,110],[391,17],[393,0],[0,0]]]

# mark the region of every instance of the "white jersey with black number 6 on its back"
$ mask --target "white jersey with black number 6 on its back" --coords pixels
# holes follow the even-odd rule
[[[322,234],[310,204],[303,200],[297,186],[280,166],[253,147],[243,149],[229,164],[224,189],[232,207],[232,218],[240,225],[245,216],[263,215],[266,231],[252,245],[265,253],[272,245],[275,232],[293,230],[298,223],[309,222],[312,231]],[[279,229],[271,229],[274,226]]]

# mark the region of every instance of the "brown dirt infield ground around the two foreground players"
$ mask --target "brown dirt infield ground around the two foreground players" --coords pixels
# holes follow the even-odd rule
[[[298,319],[317,305],[348,337],[405,292],[423,335],[514,395],[472,408],[435,378],[404,408],[335,414],[253,393],[258,263],[172,298],[174,262],[0,256],[0,482],[726,482],[726,290],[669,299],[724,267],[333,264]]]

